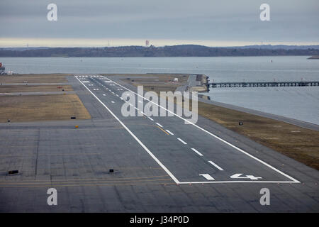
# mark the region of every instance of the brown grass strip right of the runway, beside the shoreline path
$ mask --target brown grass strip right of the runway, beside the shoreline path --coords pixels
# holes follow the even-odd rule
[[[198,102],[198,114],[319,170],[318,131],[203,102]]]

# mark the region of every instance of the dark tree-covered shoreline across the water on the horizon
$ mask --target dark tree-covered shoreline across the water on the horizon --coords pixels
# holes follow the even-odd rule
[[[319,50],[209,48],[202,45],[174,45],[165,47],[126,46],[113,48],[46,48],[33,50],[0,49],[0,57],[217,57],[217,56],[291,56],[319,55]]]

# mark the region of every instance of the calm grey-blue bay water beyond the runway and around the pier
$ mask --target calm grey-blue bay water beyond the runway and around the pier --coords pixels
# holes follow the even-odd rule
[[[214,82],[319,81],[319,60],[292,57],[0,57],[16,73],[194,73]],[[319,87],[217,88],[211,99],[319,124]]]

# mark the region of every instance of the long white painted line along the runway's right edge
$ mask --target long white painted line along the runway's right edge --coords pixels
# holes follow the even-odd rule
[[[104,76],[103,76],[103,77],[104,77]],[[108,79],[107,77],[104,77],[104,78]],[[111,80],[111,79],[109,79],[109,80],[113,82],[113,80]],[[116,82],[113,82],[113,83],[114,83],[114,84],[118,84],[118,83],[116,83]],[[121,84],[118,84],[118,86],[123,87],[123,89],[126,89],[126,90],[128,90],[128,91],[130,91],[130,92],[133,92],[132,90],[130,90],[130,89],[128,89],[128,88],[122,86]],[[145,100],[151,102],[152,104],[155,104],[156,106],[159,106],[159,108],[162,108],[162,109],[164,109],[165,111],[168,111],[169,113],[173,114],[174,116],[177,116],[178,118],[181,118],[183,121],[186,121],[187,123],[189,123],[189,124],[193,125],[194,127],[200,129],[201,131],[203,131],[203,132],[205,132],[205,133],[208,133],[209,135],[213,136],[214,138],[216,138],[216,139],[220,140],[221,142],[223,142],[223,143],[229,145],[230,147],[234,148],[235,150],[238,150],[238,151],[240,151],[241,153],[243,153],[243,154],[245,154],[245,155],[247,155],[247,156],[249,156],[249,157],[252,157],[252,159],[257,160],[258,162],[262,163],[263,165],[266,165],[266,166],[269,167],[270,169],[272,169],[272,170],[274,170],[274,171],[276,171],[276,172],[279,172],[281,175],[284,175],[285,177],[287,177],[287,178],[289,178],[289,179],[292,180],[292,182],[284,182],[284,181],[283,181],[282,183],[300,183],[297,179],[294,179],[293,177],[287,175],[286,173],[284,173],[284,172],[282,172],[282,171],[276,169],[276,168],[273,167],[272,165],[269,165],[267,162],[264,162],[264,161],[260,160],[259,158],[254,157],[253,155],[250,155],[250,153],[247,153],[245,150],[242,150],[242,149],[238,148],[237,146],[233,145],[232,143],[229,143],[228,141],[223,140],[222,138],[218,137],[217,135],[215,135],[215,134],[213,134],[213,133],[211,133],[211,132],[209,132],[209,131],[207,131],[207,130],[201,128],[200,126],[197,126],[196,123],[193,123],[193,122],[187,120],[186,118],[182,118],[181,116],[175,114],[174,112],[169,111],[169,110],[166,109],[165,107],[163,107],[163,106],[161,106],[161,105],[155,103],[154,101],[152,101],[152,100],[150,100],[150,99],[146,99],[144,96],[142,96],[142,95],[140,95],[140,94],[138,94],[138,93],[136,93],[136,92],[133,92],[133,93],[136,94],[137,96],[142,97],[142,99],[145,99]],[[247,181],[246,181],[246,182],[247,182]],[[276,182],[274,182],[274,183],[276,183]]]

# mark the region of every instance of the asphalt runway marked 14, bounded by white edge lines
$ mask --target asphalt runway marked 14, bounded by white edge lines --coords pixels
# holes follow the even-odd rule
[[[131,107],[143,114],[123,117],[121,107],[126,100],[122,94],[132,90],[99,75],[76,77],[177,184],[300,183],[217,135],[195,124],[185,124],[185,118],[168,114],[146,116],[136,107],[135,92],[135,106]],[[141,100],[143,106],[149,102],[145,98]],[[168,111],[166,107],[163,109]]]

